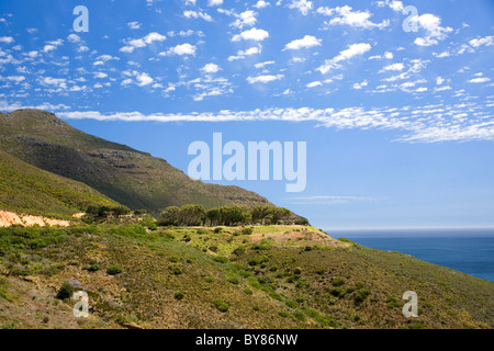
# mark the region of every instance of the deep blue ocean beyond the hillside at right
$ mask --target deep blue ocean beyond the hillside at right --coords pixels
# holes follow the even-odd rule
[[[327,230],[364,247],[398,251],[494,282],[494,229]]]

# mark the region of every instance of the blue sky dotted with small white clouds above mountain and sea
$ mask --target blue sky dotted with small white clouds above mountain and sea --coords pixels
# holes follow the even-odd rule
[[[306,141],[302,193],[220,183],[327,229],[494,227],[493,19],[487,0],[2,1],[0,111],[48,110],[183,171],[215,132]]]

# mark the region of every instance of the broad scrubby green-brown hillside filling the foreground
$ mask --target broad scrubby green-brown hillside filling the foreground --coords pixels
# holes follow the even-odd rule
[[[114,328],[125,322],[145,328],[494,326],[491,282],[405,254],[315,239],[311,235],[316,233],[315,228],[256,227],[251,236],[234,235],[239,229],[214,234],[203,228],[161,228],[146,233],[139,226],[100,225],[29,236],[22,235],[25,229],[20,228],[3,231],[0,326]],[[273,233],[292,239],[281,240]],[[20,241],[24,249],[12,245],[18,242],[19,247]],[[238,248],[245,251],[235,251]],[[22,256],[15,254],[20,252]],[[228,260],[222,261],[218,253]],[[83,270],[91,262],[99,262],[101,270]],[[123,273],[109,276],[105,271],[112,264],[119,264]],[[71,316],[72,302],[54,298],[57,288],[70,278],[77,278],[90,292],[92,314],[88,319]],[[404,304],[401,296],[407,290],[418,294],[420,316],[416,319],[401,314]],[[178,292],[184,294],[183,299],[175,298]],[[358,296],[363,295],[360,301]],[[215,308],[217,298],[228,303],[228,312]]]

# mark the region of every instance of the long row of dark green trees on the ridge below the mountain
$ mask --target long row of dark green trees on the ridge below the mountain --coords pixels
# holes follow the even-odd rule
[[[202,205],[171,206],[161,213],[162,226],[236,226],[300,224],[307,225],[305,218],[293,219],[293,214],[284,207],[257,206],[221,206],[205,211]]]

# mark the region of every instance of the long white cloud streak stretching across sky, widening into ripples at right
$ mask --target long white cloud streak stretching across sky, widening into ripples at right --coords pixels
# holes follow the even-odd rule
[[[290,93],[290,90],[287,90]],[[0,107],[9,105],[0,101]],[[317,126],[335,129],[394,129],[397,140],[407,143],[437,143],[446,140],[494,140],[494,120],[487,104],[405,105],[403,107],[360,106],[335,109],[267,109],[252,111],[221,111],[218,113],[150,114],[139,112],[101,114],[94,111],[63,112],[63,118],[98,121],[148,122],[233,122],[285,121],[313,122]],[[485,118],[475,118],[476,115]],[[462,116],[458,118],[458,116]]]

